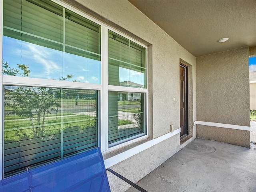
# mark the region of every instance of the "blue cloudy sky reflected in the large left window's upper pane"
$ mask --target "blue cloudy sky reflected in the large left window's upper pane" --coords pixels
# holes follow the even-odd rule
[[[3,59],[10,68],[25,64],[30,77],[55,79],[73,75],[72,80],[100,84],[100,61],[64,53],[44,46],[3,36]]]

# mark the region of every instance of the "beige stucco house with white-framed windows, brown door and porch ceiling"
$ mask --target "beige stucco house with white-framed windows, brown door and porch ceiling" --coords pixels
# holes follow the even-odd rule
[[[196,137],[249,148],[255,6],[1,0],[0,179],[96,146],[107,168],[133,182]],[[58,80],[68,75],[77,82]],[[13,99],[27,103],[18,120],[4,116]],[[113,192],[129,187],[109,182]]]

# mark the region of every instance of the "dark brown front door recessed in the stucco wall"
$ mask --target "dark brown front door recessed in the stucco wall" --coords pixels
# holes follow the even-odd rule
[[[180,65],[180,137],[188,134],[187,129],[187,68]]]

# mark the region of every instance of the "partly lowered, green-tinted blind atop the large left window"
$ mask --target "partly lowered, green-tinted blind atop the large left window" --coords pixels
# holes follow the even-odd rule
[[[83,54],[84,57],[100,60],[100,26],[69,10],[63,13],[62,6],[53,2],[4,1],[4,28],[9,29],[4,30],[4,36],[49,48],[54,48],[54,46],[47,46],[49,42],[59,42],[62,46],[78,48],[77,52],[79,49],[88,51],[89,53]],[[16,35],[13,31],[20,32],[20,34]],[[23,32],[30,34],[31,38],[38,37],[37,41],[45,43],[30,40]],[[57,48],[57,50],[60,49]],[[62,50],[66,49],[62,48]],[[67,49],[69,50],[70,48]],[[72,51],[72,54],[76,52]],[[79,53],[77,55],[81,56]]]

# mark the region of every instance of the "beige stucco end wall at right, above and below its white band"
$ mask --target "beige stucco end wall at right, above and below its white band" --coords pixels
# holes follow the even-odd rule
[[[250,127],[248,58],[249,48],[196,58],[197,121]],[[196,135],[250,147],[249,130],[227,129],[198,126]]]

